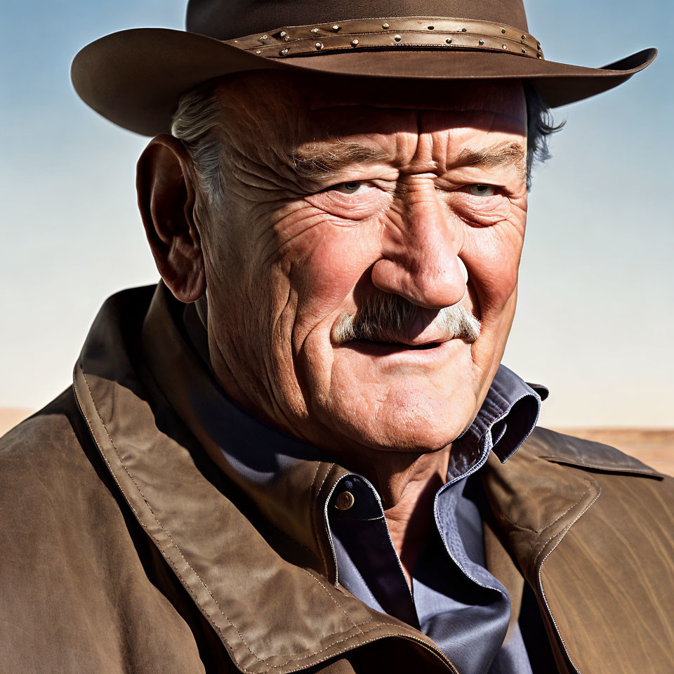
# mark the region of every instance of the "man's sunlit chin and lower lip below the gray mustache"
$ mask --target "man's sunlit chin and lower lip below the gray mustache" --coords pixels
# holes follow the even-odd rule
[[[426,454],[447,447],[477,412],[475,365],[470,345],[451,340],[443,348],[411,352],[388,345],[339,348],[329,381],[310,392],[310,416],[322,427],[322,442],[334,451],[373,449]],[[374,347],[376,348],[376,347]],[[315,395],[311,395],[314,393]],[[306,398],[305,398],[306,399]],[[326,432],[327,431],[327,432]]]

